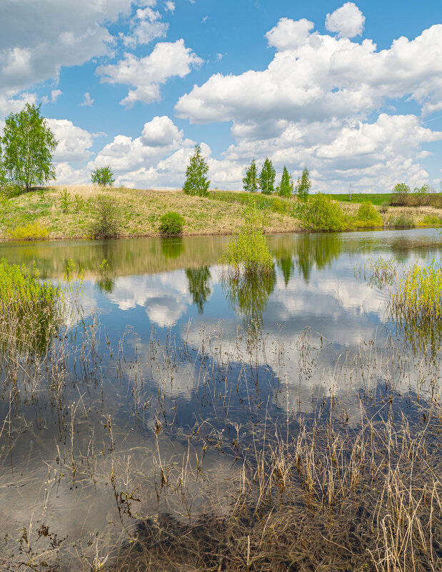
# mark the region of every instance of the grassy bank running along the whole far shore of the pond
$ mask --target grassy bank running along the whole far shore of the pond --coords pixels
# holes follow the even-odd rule
[[[248,201],[263,212],[268,233],[303,231],[298,201],[278,196],[233,191],[211,191],[209,198],[186,196],[182,191],[99,189],[93,186],[48,187],[1,200],[0,240],[86,239],[96,216],[99,196],[111,196],[119,213],[119,235],[158,236],[161,216],[176,211],[184,216],[184,235],[236,234]],[[358,220],[361,197],[378,204],[387,195],[333,195],[339,201],[346,228],[373,226]],[[341,198],[340,198],[341,197]],[[346,200],[344,200],[346,199]],[[435,206],[382,206],[376,226],[439,226],[441,209]]]

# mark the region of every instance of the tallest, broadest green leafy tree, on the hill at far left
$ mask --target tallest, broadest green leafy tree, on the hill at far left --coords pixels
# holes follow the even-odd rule
[[[4,179],[22,191],[55,179],[52,157],[57,143],[40,115],[40,106],[26,104],[18,113],[9,114],[0,138]]]

